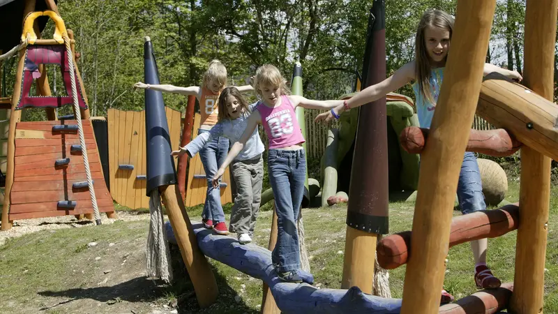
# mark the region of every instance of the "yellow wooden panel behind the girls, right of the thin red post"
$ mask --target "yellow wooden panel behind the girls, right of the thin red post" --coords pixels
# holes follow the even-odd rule
[[[197,129],[199,128],[199,121],[201,117],[195,114],[194,128],[192,133],[192,140],[197,136]],[[207,193],[207,179],[205,177],[204,166],[199,154],[190,159],[188,165],[188,185],[186,185],[186,207],[192,207],[199,204],[204,204]],[[225,170],[221,182],[221,204],[232,202],[231,188],[230,188],[230,175],[229,168]]]

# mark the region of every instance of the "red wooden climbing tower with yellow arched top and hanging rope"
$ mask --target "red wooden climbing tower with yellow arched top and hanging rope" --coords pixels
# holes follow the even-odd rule
[[[6,55],[19,53],[19,64],[13,95],[3,98],[3,103],[10,103],[10,126],[1,230],[10,229],[11,221],[16,219],[83,214],[91,217],[94,213],[100,224],[98,212],[115,217],[86,93],[75,65],[73,34],[66,30],[54,1],[39,2],[8,1],[4,10],[0,9],[9,21],[19,16],[17,24],[13,22],[6,29],[19,29],[15,25],[24,17],[21,37],[14,43],[14,32],[7,32],[2,45],[3,49],[16,46]],[[40,8],[47,10],[36,12]],[[40,30],[49,17],[55,24],[53,39],[41,39]],[[47,64],[60,67],[66,96],[52,96]],[[37,96],[31,95],[33,83]],[[54,109],[72,103],[77,119],[59,120]],[[45,108],[49,121],[22,122],[24,107]]]

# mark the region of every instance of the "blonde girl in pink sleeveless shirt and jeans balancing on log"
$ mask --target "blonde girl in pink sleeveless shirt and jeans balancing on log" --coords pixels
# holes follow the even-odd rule
[[[299,216],[304,193],[306,158],[301,145],[305,140],[294,109],[296,106],[301,106],[308,109],[330,110],[342,105],[343,101],[309,100],[302,96],[290,95],[285,85],[285,78],[278,68],[270,64],[257,69],[254,90],[260,101],[248,117],[246,130],[239,142],[234,143],[225,162],[213,177],[213,184],[218,184],[219,178],[225,173],[225,168],[243,149],[257,125],[262,124],[269,138],[267,167],[278,217],[277,244],[271,253],[271,260],[280,279],[301,283],[296,218]]]

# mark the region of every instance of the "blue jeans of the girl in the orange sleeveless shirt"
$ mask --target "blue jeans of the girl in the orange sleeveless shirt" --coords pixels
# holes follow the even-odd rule
[[[209,130],[198,129],[197,134],[209,132]],[[226,137],[218,137],[208,142],[203,149],[199,150],[199,158],[204,165],[205,177],[207,179],[207,194],[205,197],[202,218],[213,220],[213,223],[225,221],[225,213],[221,206],[221,190],[213,188],[213,176],[217,173],[220,165],[223,165],[229,151],[229,140]]]

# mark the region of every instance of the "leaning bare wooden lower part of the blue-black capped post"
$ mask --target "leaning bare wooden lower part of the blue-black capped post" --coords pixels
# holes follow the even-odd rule
[[[159,190],[172,229],[175,231],[182,259],[193,283],[197,303],[200,308],[206,308],[216,301],[219,294],[215,276],[209,262],[196,245],[196,236],[178,186],[160,186]]]

